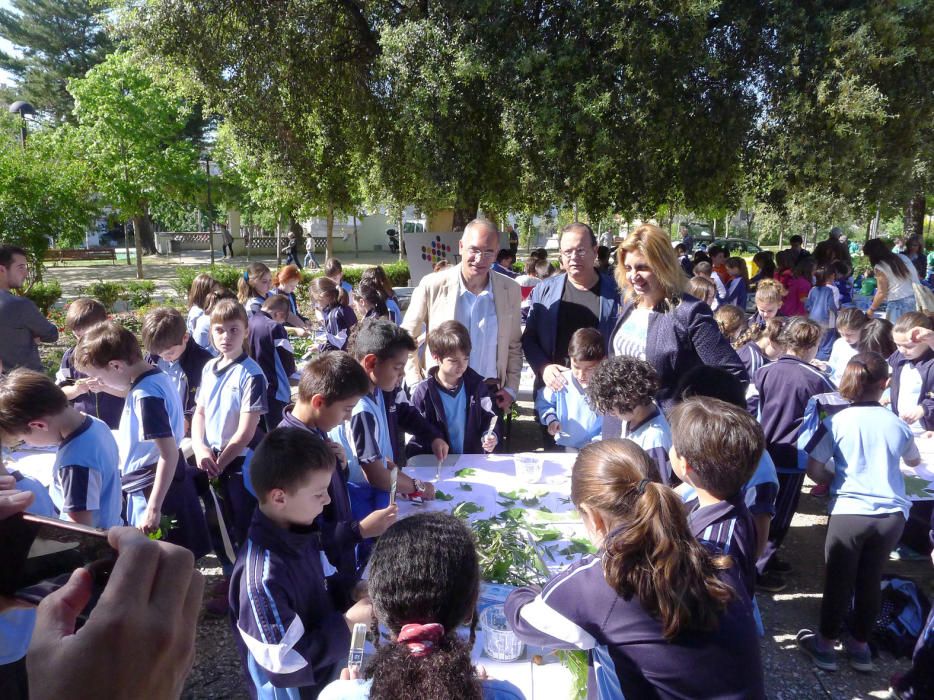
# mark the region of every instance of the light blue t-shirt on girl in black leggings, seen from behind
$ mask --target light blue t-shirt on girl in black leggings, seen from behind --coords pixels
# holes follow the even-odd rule
[[[831,515],[901,513],[908,518],[900,460],[918,459],[911,428],[877,403],[853,404],[824,419],[808,455],[834,461],[830,485]]]

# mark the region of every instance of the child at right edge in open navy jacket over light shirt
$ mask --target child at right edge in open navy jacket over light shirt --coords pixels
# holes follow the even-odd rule
[[[934,430],[934,350],[913,343],[912,328],[934,329],[934,321],[920,311],[899,316],[892,328],[898,351],[889,357],[892,367],[891,409],[911,426],[915,436]]]

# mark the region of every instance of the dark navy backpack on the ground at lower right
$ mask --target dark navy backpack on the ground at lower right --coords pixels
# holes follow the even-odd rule
[[[885,575],[881,587],[882,606],[870,642],[875,650],[888,651],[896,659],[911,658],[931,604],[911,579]]]

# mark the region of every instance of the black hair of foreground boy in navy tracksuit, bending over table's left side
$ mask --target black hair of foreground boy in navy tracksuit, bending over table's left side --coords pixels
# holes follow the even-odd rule
[[[320,437],[304,428],[276,428],[266,434],[250,460],[250,479],[260,503],[273,489],[292,493],[308,475],[333,469],[334,453]]]

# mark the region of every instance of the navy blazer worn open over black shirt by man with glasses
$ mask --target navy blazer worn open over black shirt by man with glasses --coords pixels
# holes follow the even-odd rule
[[[566,273],[555,275],[532,290],[529,317],[525,322],[525,332],[522,333],[522,351],[529,367],[539,377],[547,365],[558,360],[555,358],[555,342],[558,339],[558,314],[566,279]],[[601,272],[600,322],[597,324],[597,330],[603,334],[607,347],[618,311],[619,288],[616,286],[616,280],[612,275]]]

